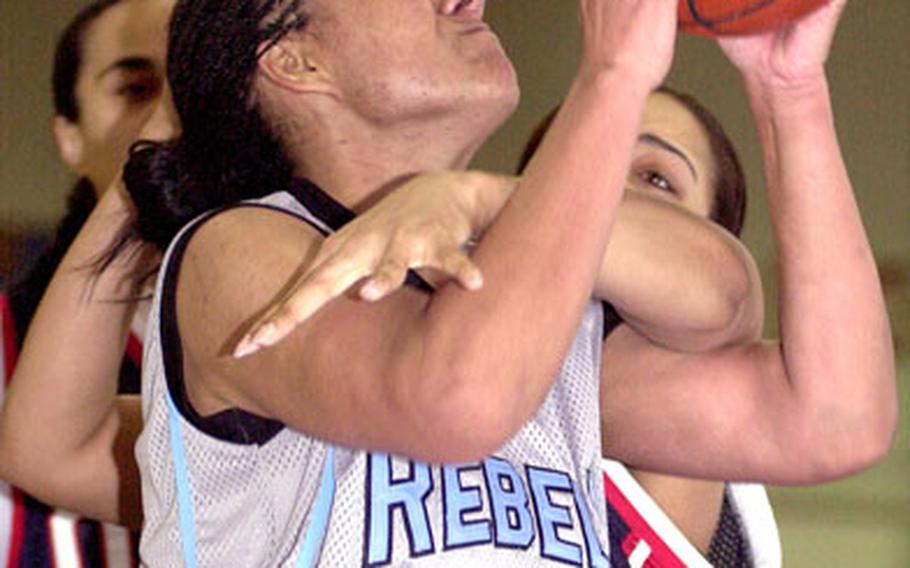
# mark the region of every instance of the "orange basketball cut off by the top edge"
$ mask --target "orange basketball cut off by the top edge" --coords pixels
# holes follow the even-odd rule
[[[828,0],[679,0],[682,31],[707,37],[747,35],[778,28]]]

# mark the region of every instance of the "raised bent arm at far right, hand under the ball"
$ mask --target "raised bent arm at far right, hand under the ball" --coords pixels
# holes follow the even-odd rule
[[[685,355],[618,331],[604,352],[608,454],[668,473],[801,484],[887,452],[897,415],[891,335],[823,72],[844,4],[722,44],[764,150],[780,343]]]

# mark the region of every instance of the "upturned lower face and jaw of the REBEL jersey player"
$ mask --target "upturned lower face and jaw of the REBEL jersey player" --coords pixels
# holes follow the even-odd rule
[[[518,87],[485,0],[309,0],[313,33],[349,104],[371,120],[500,116]]]

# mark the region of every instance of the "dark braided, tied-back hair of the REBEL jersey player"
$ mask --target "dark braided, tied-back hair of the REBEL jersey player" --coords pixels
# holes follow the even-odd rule
[[[160,249],[207,210],[287,188],[293,167],[253,94],[260,54],[302,29],[301,0],[180,0],[167,73],[182,135],[139,142],[124,169],[137,219],[124,236]]]

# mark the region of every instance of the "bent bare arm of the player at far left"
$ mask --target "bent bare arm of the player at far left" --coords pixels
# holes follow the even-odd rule
[[[134,304],[117,300],[135,297],[143,259],[124,255],[97,279],[91,269],[129,217],[121,190],[106,192],[41,301],[0,412],[0,477],[45,502],[138,526],[139,400],[116,396]]]

